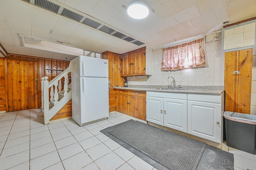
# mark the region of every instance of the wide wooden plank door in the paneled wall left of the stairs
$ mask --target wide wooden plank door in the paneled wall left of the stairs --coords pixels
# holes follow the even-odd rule
[[[8,59],[7,112],[38,108],[38,62]]]

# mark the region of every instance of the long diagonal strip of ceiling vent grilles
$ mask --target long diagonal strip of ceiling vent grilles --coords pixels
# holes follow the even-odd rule
[[[67,18],[70,18],[72,20],[78,21],[80,23],[83,23],[85,25],[88,25],[90,27],[96,28],[100,31],[103,31],[105,33],[108,33],[110,35],[113,35],[114,37],[118,37],[120,39],[123,39],[125,41],[128,41],[130,43],[136,44],[136,45],[142,45],[144,43],[132,38],[128,37],[127,35],[124,35],[110,27],[107,27],[105,25],[102,25],[101,23],[98,23],[96,21],[90,20],[89,18],[86,18],[80,14],[77,14],[75,12],[72,12],[70,10],[67,10],[66,8],[63,8],[61,6],[58,6],[57,4],[54,4],[48,0],[22,0],[25,2],[28,2],[30,4],[34,4],[36,6],[39,6],[41,8],[44,8],[46,10],[52,11],[56,14],[60,14],[62,16],[65,16]]]

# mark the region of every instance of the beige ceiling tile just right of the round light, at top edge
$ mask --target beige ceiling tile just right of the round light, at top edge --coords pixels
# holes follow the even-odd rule
[[[169,0],[155,9],[156,15],[162,20],[180,11],[182,11],[182,9],[175,0]]]

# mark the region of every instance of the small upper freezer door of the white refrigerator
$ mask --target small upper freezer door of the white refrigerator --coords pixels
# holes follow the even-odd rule
[[[108,60],[79,56],[80,76],[108,77]]]

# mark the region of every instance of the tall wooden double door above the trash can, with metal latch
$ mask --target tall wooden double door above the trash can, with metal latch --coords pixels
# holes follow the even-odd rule
[[[225,111],[250,114],[251,83],[252,49],[225,53]]]

